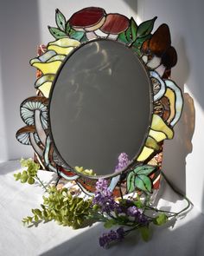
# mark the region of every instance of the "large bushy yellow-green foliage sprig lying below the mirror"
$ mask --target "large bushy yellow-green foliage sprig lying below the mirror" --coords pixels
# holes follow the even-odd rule
[[[92,200],[83,200],[73,196],[67,190],[48,187],[48,196],[43,196],[41,209],[32,209],[33,216],[23,218],[23,224],[34,224],[38,221],[54,220],[62,226],[72,226],[74,229],[83,225],[89,215]]]

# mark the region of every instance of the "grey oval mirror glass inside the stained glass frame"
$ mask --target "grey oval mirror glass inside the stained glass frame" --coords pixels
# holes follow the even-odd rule
[[[111,175],[118,155],[136,160],[152,115],[150,78],[132,49],[95,40],[61,66],[49,102],[54,148],[71,167]]]

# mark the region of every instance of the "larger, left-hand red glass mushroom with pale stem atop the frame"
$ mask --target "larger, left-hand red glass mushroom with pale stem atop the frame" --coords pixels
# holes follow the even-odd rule
[[[70,26],[76,31],[86,32],[88,40],[97,38],[94,31],[99,30],[103,23],[105,23],[105,10],[99,7],[82,9],[69,19]]]

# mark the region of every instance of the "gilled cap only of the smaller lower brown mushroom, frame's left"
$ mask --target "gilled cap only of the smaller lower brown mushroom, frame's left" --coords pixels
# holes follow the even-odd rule
[[[38,144],[40,142],[40,139],[38,135],[35,132],[35,126],[26,126],[23,128],[20,128],[16,132],[16,139],[17,141],[21,142],[24,145],[31,145],[30,139],[29,139],[29,134],[33,133],[35,137],[35,141]]]

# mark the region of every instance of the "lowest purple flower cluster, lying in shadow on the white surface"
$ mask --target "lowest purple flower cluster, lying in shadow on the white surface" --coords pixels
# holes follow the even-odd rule
[[[102,247],[108,246],[112,241],[124,239],[124,228],[119,227],[116,231],[111,230],[109,233],[103,233],[99,238],[99,245]]]

